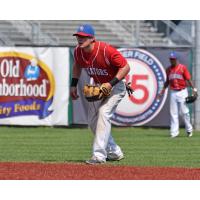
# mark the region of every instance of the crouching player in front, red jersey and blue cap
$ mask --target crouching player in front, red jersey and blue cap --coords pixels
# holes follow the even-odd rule
[[[121,160],[124,155],[111,135],[111,117],[125,96],[126,87],[122,79],[130,67],[126,59],[112,46],[95,39],[95,31],[89,24],[78,27],[78,45],[74,50],[73,78],[70,94],[78,98],[77,84],[81,70],[87,71],[96,84],[103,84],[111,95],[95,103],[89,103],[88,124],[94,133],[93,152],[87,164],[105,163],[106,160]]]

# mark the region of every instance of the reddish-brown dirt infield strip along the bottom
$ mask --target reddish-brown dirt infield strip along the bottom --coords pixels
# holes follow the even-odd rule
[[[1,180],[200,180],[200,168],[0,163]]]

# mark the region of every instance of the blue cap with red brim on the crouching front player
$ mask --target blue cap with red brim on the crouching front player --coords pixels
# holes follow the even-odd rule
[[[76,33],[73,36],[85,36],[85,37],[94,37],[94,29],[90,24],[83,24],[78,27]]]

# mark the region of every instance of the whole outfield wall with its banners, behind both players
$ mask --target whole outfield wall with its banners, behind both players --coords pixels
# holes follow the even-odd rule
[[[169,126],[169,95],[157,101],[165,81],[168,55],[172,49],[119,49],[131,71],[126,77],[134,88],[124,97],[112,123],[120,126]],[[192,72],[192,52],[175,49],[181,63]],[[71,101],[69,84],[73,48],[1,47],[0,48],[0,124],[31,126],[68,126],[87,124],[88,102],[82,94],[90,82],[82,70],[78,85],[80,98]]]

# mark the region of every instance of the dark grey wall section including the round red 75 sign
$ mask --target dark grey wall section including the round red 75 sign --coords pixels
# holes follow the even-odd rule
[[[145,49],[119,49],[128,59],[131,71],[126,80],[135,87],[133,97],[128,95],[119,104],[112,123],[120,126],[152,126],[168,127],[169,94],[157,102],[157,95],[163,87],[165,75],[163,70],[169,66],[169,53],[176,50],[182,64],[188,66],[192,73],[192,51],[189,48],[145,48]],[[72,55],[71,55],[72,56]],[[162,70],[163,68],[163,70]],[[73,123],[87,124],[87,102],[81,88],[89,82],[85,72],[82,73],[79,83],[80,99],[73,102]],[[192,105],[190,110],[192,111]],[[81,111],[81,112],[80,112]],[[180,119],[180,125],[183,125]]]

